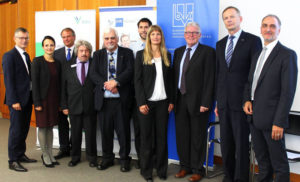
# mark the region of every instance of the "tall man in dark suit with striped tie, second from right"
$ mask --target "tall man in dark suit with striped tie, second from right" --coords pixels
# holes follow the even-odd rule
[[[243,112],[243,91],[251,59],[261,50],[259,37],[241,30],[240,11],[224,9],[223,21],[229,35],[217,42],[217,85],[215,114],[220,120],[224,182],[249,181],[249,123]]]

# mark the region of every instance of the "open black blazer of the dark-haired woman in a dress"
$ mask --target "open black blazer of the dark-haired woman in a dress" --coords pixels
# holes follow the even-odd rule
[[[61,78],[61,65],[55,60],[56,70]],[[31,66],[32,99],[35,107],[42,105],[48,93],[50,84],[50,70],[44,56],[35,57]],[[60,83],[58,83],[60,85]],[[60,95],[60,90],[58,95]]]

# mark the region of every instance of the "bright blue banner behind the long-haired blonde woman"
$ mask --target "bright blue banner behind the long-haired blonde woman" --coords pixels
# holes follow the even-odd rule
[[[219,30],[219,0],[157,0],[157,23],[164,31],[166,46],[172,55],[176,48],[186,45],[184,27],[193,21],[201,27],[200,43],[215,48]],[[214,119],[211,113],[210,121]],[[178,160],[174,114],[171,114],[168,130],[169,158]],[[209,151],[210,166],[213,165],[213,153],[212,147]]]

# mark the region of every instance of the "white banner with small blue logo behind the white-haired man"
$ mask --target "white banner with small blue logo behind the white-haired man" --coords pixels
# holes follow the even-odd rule
[[[119,45],[131,48],[140,36],[138,34],[137,23],[141,18],[148,18],[152,24],[156,24],[156,9],[149,6],[121,6],[121,7],[101,7],[99,8],[99,48],[103,46],[103,31],[105,28],[115,28],[119,35]],[[97,148],[101,151],[101,136],[97,135]],[[114,153],[118,154],[119,143],[115,135]],[[134,129],[131,122],[131,152],[135,157]]]

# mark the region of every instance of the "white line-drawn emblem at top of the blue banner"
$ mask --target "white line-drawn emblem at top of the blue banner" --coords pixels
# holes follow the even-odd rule
[[[194,21],[194,3],[173,4],[173,27],[185,27]]]

